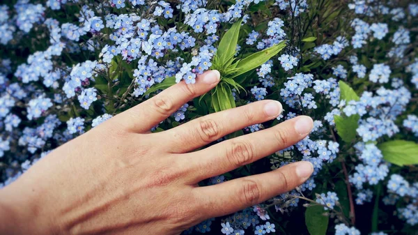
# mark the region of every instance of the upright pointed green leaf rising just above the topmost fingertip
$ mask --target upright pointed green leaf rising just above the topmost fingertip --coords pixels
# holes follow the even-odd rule
[[[238,36],[240,35],[241,22],[242,19],[235,22],[231,26],[231,29],[226,31],[221,41],[219,42],[216,56],[222,64],[226,63],[226,61],[233,58],[233,55],[235,54],[235,50],[237,48],[238,43]]]

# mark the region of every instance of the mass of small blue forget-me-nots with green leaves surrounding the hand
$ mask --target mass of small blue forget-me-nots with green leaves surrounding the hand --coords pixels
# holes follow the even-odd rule
[[[299,114],[314,130],[201,185],[299,160],[314,174],[185,234],[413,234],[417,15],[401,0],[10,1],[0,6],[1,187],[57,146],[216,69],[215,89],[152,131],[265,98],[284,113],[219,142]]]

